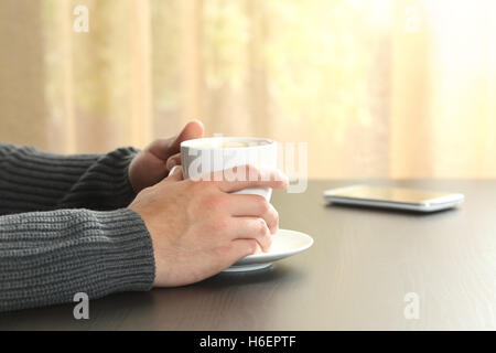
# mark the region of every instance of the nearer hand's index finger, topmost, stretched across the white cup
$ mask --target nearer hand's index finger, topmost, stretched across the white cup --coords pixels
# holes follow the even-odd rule
[[[252,165],[239,165],[214,172],[209,180],[217,183],[224,192],[236,192],[247,188],[288,188],[288,176],[277,169],[257,169]]]

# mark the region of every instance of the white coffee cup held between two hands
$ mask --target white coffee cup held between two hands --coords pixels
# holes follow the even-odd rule
[[[277,168],[277,154],[276,141],[263,138],[213,137],[181,142],[183,175],[193,180],[247,164],[260,170],[273,170]],[[227,180],[237,176],[218,175]],[[272,189],[251,188],[236,193],[258,194],[270,201]]]

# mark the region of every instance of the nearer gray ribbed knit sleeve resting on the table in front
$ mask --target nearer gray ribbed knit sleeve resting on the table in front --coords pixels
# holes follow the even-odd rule
[[[153,247],[140,215],[58,210],[0,216],[0,311],[149,290]]]

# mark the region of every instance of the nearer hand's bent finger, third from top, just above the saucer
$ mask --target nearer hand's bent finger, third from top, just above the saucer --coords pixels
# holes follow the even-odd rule
[[[233,217],[229,222],[231,223],[229,228],[233,229],[229,236],[235,239],[256,239],[262,252],[267,253],[270,250],[272,238],[263,218]]]

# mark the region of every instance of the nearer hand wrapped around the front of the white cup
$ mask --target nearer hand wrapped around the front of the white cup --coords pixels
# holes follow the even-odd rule
[[[192,181],[183,180],[181,168],[176,168],[169,178],[138,194],[129,208],[141,215],[151,235],[155,287],[193,284],[258,247],[269,249],[271,234],[278,231],[277,211],[262,196],[230,193],[246,188],[285,189],[288,179],[271,171],[267,181],[251,167],[247,173],[259,178]]]

